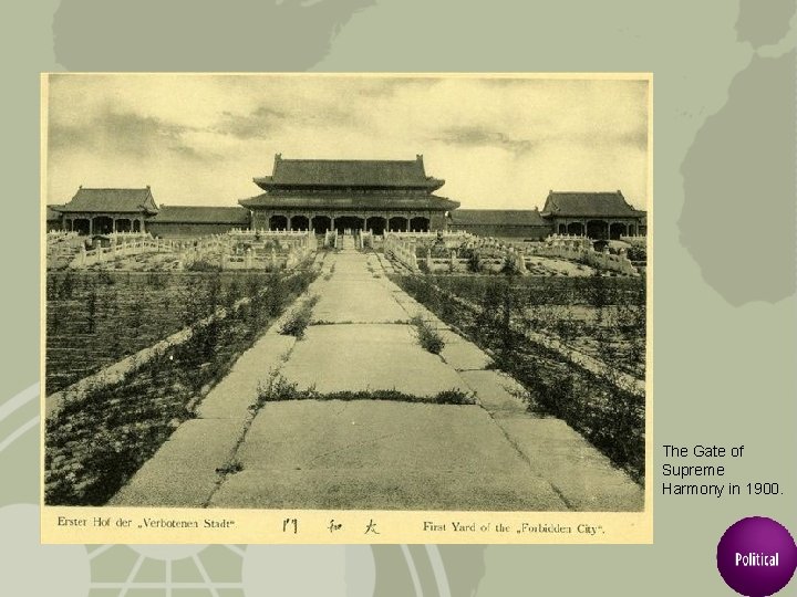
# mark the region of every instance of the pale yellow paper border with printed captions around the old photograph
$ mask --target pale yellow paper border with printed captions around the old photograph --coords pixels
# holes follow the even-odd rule
[[[624,78],[648,82],[648,266],[645,331],[645,485],[644,509],[640,512],[477,512],[477,511],[360,511],[360,510],[246,510],[180,507],[53,506],[44,503],[45,459],[45,365],[46,365],[46,195],[48,195],[48,108],[50,75],[147,75],[186,76],[273,76],[273,77],[465,77],[465,78]],[[40,505],[41,540],[51,544],[651,544],[653,543],[653,277],[654,277],[654,198],[653,198],[653,74],[652,73],[42,73],[41,74],[41,177],[40,177]],[[141,528],[141,521],[196,523]],[[299,532],[286,532],[286,520],[298,520]],[[330,520],[341,523],[330,532]],[[84,524],[60,524],[62,521]],[[96,524],[101,521],[100,524]],[[125,523],[125,521],[128,521]],[[207,522],[211,524],[208,524]],[[459,522],[474,525],[473,532],[424,531],[424,522]],[[379,534],[365,534],[370,523]],[[537,532],[515,532],[521,525]],[[511,527],[498,531],[498,525]],[[581,526],[600,528],[596,534],[578,531]],[[563,531],[570,528],[569,532]]]

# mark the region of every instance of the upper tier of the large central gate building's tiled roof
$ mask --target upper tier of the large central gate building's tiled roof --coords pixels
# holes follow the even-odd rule
[[[435,190],[444,180],[426,176],[423,156],[412,160],[282,159],[275,157],[273,172],[253,179],[263,190],[280,187],[389,187]]]

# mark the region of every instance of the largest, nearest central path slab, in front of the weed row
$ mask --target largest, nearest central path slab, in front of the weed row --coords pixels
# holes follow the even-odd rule
[[[266,405],[238,451],[242,471],[211,505],[565,510],[476,406],[371,400]]]

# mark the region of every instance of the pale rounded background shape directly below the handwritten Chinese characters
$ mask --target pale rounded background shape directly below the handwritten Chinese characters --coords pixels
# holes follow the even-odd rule
[[[371,597],[376,587],[368,545],[250,545],[242,573],[247,597]]]

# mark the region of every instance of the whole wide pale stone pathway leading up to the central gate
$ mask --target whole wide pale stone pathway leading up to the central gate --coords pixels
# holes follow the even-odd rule
[[[272,326],[112,500],[113,505],[356,510],[638,511],[643,490],[558,419],[526,410],[522,388],[489,369],[385,276],[380,255],[322,262],[301,341]],[[411,317],[439,331],[425,352]],[[268,402],[279,374],[321,394],[474,392],[473,406],[377,400]]]

